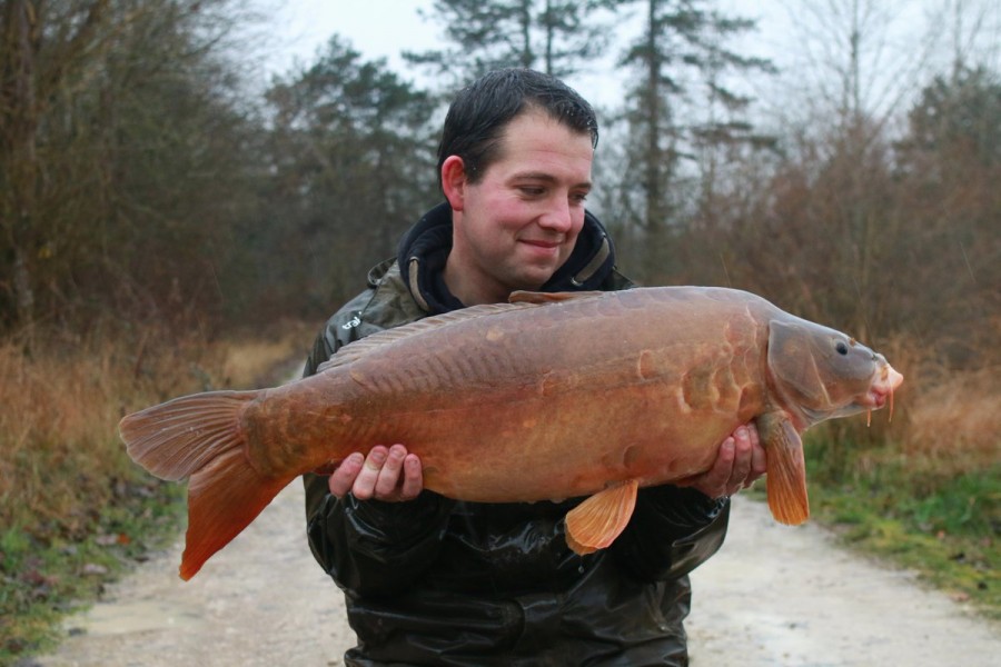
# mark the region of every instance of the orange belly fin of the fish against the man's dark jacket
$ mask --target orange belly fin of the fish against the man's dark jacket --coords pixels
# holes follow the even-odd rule
[[[625,529],[640,482],[630,479],[599,491],[566,515],[566,544],[584,556],[604,549]]]

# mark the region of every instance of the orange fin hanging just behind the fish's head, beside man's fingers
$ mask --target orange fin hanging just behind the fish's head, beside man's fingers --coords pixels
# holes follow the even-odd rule
[[[769,509],[779,522],[802,524],[810,517],[803,440],[784,412],[759,417],[757,431],[769,457]]]

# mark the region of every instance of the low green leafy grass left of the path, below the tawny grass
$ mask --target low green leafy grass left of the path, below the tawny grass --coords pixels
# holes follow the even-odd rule
[[[137,471],[116,484],[87,537],[40,526],[0,532],[0,665],[53,647],[61,620],[89,606],[105,586],[177,536],[184,487]]]

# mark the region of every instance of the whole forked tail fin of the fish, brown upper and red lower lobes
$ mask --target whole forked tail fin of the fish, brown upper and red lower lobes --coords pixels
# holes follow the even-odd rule
[[[190,579],[264,510],[287,479],[258,472],[240,425],[259,391],[185,396],[125,417],[119,434],[129,456],[162,479],[188,482],[188,531],[180,566]]]

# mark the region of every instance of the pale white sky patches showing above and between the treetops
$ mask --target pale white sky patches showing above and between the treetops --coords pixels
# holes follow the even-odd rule
[[[254,0],[260,7],[266,8],[268,18],[268,32],[270,33],[271,48],[264,62],[264,73],[288,73],[298,62],[310,62],[318,49],[334,33],[339,33],[351,46],[363,53],[366,59],[386,58],[390,69],[404,78],[415,80],[418,84],[422,76],[418,70],[408,67],[400,58],[402,50],[423,51],[438,48],[442,43],[443,31],[439,26],[424,20],[419,9],[429,10],[433,0]],[[872,90],[864,91],[874,106],[895,103],[896,92],[894,88],[908,76],[919,71],[919,59],[922,56],[915,46],[930,34],[928,26],[930,12],[949,12],[949,7],[961,3],[967,8],[984,7],[990,14],[990,26],[981,26],[980,37],[987,38],[989,43],[1001,43],[998,29],[999,16],[1001,16],[1001,0],[863,0],[861,7],[870,8],[875,14],[872,24],[892,22],[892,30],[885,36],[878,36],[878,40],[870,42],[869,61],[865,63],[869,71],[876,72],[870,77],[866,86]],[[742,53],[766,57],[773,60],[787,77],[782,84],[787,87],[829,86],[831,79],[836,79],[838,72],[830,67],[817,64],[826,59],[836,61],[844,58],[842,54],[832,54],[831,46],[824,43],[832,39],[844,40],[844,36],[836,32],[838,27],[820,26],[813,28],[813,34],[797,29],[793,17],[795,14],[809,16],[810,10],[817,4],[816,0],[720,0],[722,12],[725,16],[741,16],[756,19],[757,29],[749,32],[743,40],[735,46],[735,50]],[[843,0],[831,0],[824,7],[849,7]],[[806,8],[806,9],[804,9]],[[874,9],[873,9],[874,8]],[[634,12],[638,9],[634,9]],[[814,13],[814,20],[816,14]],[[636,19],[638,26],[641,19]],[[809,19],[807,19],[809,20]],[[948,30],[943,26],[938,27],[938,39],[948,42]],[[967,26],[969,28],[969,26]],[[623,33],[633,34],[628,26]],[[812,40],[812,41],[811,41]],[[885,42],[883,41],[885,40]],[[994,47],[997,49],[997,47]],[[623,84],[622,72],[612,72],[612,59],[621,52],[622,48],[606,58],[604,64],[597,64],[591,72],[577,74],[568,82],[574,86],[586,99],[595,104],[614,106],[622,101]],[[948,50],[948,49],[947,49]],[[811,63],[811,60],[814,62]],[[880,76],[882,72],[882,77]],[[909,73],[911,72],[911,73]],[[813,77],[813,81],[807,78]],[[825,80],[827,79],[827,80]],[[910,83],[909,83],[910,84]],[[833,84],[836,94],[836,84]],[[783,97],[781,92],[761,94],[759,90],[755,97]]]

